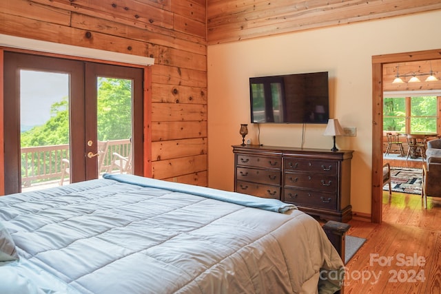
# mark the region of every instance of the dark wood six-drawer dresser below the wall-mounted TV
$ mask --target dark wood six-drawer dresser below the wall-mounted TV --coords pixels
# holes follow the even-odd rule
[[[352,150],[234,145],[234,191],[275,198],[323,220],[351,220]]]

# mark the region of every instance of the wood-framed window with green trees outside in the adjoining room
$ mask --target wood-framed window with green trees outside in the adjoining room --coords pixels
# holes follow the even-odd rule
[[[391,97],[383,99],[383,131],[439,133],[437,96]]]

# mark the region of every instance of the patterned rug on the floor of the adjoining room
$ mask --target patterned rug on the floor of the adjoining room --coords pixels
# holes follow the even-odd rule
[[[422,169],[391,167],[392,191],[400,193],[421,194]],[[384,185],[389,191],[389,185]]]

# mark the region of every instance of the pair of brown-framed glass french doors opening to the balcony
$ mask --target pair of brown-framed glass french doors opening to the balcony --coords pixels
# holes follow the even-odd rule
[[[5,52],[4,81],[6,194],[142,174],[141,68]]]

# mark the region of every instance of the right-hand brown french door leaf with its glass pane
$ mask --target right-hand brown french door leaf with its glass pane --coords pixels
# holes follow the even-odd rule
[[[92,144],[86,154],[97,154],[94,160],[86,158],[86,179],[105,172],[142,175],[143,69],[86,63],[85,125]],[[105,143],[105,151],[99,151]]]

